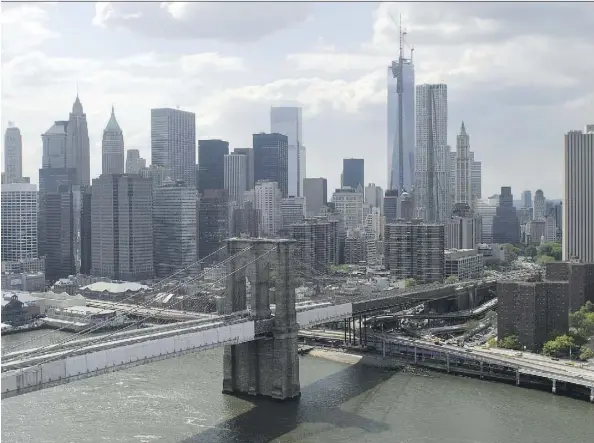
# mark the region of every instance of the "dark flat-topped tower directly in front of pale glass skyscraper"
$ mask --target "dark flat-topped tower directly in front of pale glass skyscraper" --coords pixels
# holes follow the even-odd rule
[[[289,192],[288,138],[282,134],[254,134],[254,181],[278,183],[283,198]]]

